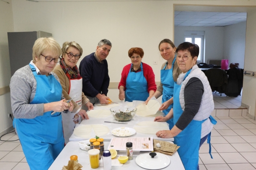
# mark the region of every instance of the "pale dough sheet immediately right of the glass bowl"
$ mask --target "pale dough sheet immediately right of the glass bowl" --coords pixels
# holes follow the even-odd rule
[[[146,105],[144,102],[137,107],[137,116],[151,116],[157,113],[160,108],[160,103],[157,100],[149,100]]]

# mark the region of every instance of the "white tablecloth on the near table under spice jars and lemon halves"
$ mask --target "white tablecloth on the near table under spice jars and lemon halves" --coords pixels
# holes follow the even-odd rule
[[[108,147],[109,142],[104,142],[105,148]],[[122,167],[112,167],[112,170],[143,170],[142,167],[138,166],[135,162],[135,159],[138,155],[146,153],[145,151],[140,153],[133,153],[133,159],[131,161],[127,161],[125,164],[123,164]],[[148,152],[149,153],[149,152]],[[118,156],[123,155],[124,153],[119,153]],[[67,145],[64,147],[64,149],[61,151],[57,159],[52,163],[51,167],[49,167],[49,170],[61,170],[62,167],[65,165],[67,166],[68,161],[70,160],[71,155],[77,155],[79,163],[83,166],[82,170],[93,170],[90,167],[90,160],[87,151],[81,150],[78,142],[68,142]],[[171,163],[166,168],[163,168],[164,170],[185,170],[183,167],[183,164],[180,160],[180,156],[177,152],[173,154],[172,156],[168,156],[171,160]],[[103,167],[98,167],[98,170],[103,170]],[[144,169],[145,170],[145,169]]]

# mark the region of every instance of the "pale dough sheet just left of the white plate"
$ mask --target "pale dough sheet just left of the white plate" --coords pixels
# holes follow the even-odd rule
[[[82,125],[74,129],[74,134],[78,137],[89,139],[90,137],[93,137],[91,136],[92,130],[99,137],[109,132],[109,128],[105,125]]]

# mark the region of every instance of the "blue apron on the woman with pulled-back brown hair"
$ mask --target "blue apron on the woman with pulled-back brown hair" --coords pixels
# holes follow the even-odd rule
[[[163,70],[161,70],[161,83],[163,84],[162,104],[167,100],[171,99],[173,96],[174,79],[172,77],[172,71],[175,60],[176,57],[173,59],[171,69],[165,70],[167,66],[166,62],[166,65],[164,66]],[[171,104],[166,110],[163,110],[163,113],[167,115],[169,111],[172,109],[172,106],[173,104]],[[174,126],[173,119],[168,120],[167,123],[169,123],[169,129],[172,129],[172,127]]]

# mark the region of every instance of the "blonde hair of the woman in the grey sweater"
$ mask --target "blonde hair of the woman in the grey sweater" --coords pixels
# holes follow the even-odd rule
[[[52,51],[54,55],[61,55],[61,46],[52,37],[38,38],[33,46],[33,62],[35,63],[35,57],[38,57],[44,51]]]

